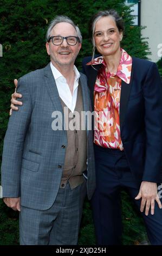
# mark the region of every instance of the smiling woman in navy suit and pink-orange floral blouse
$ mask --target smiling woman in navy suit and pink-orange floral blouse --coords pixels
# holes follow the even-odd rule
[[[120,48],[124,23],[115,10],[96,14],[92,31],[93,50],[101,56],[94,59],[93,51],[93,58],[83,60],[83,71],[95,110],[97,184],[92,206],[97,242],[121,243],[120,189],[125,188],[144,217],[151,245],[162,245],[157,193],[162,155],[160,76],[154,63],[132,58]]]

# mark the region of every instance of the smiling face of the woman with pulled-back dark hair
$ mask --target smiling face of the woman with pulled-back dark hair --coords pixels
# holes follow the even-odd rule
[[[94,31],[95,46],[102,56],[114,55],[120,51],[122,32],[116,27],[112,16],[101,17],[96,22]]]

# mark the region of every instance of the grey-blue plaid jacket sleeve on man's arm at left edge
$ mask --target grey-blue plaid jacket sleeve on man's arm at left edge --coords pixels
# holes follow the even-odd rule
[[[23,105],[12,111],[5,133],[1,166],[3,197],[20,197],[22,153],[32,108],[28,86],[24,77],[18,80],[17,92],[22,94]]]

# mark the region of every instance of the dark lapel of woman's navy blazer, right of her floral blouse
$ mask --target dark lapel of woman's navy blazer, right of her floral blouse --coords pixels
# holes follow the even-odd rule
[[[121,95],[120,95],[120,132],[122,129],[122,125],[124,123],[127,106],[128,106],[128,100],[129,100],[129,94],[131,92],[132,87],[132,81],[133,81],[133,58],[132,58],[132,71],[131,71],[131,82],[129,84],[125,83],[123,80],[121,81]]]

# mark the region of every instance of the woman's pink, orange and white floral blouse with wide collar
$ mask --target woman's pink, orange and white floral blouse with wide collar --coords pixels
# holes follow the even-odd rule
[[[94,86],[94,143],[103,148],[123,150],[120,136],[120,93],[121,80],[130,83],[132,57],[121,49],[121,60],[116,74],[107,70],[102,56],[87,65],[102,64]]]

